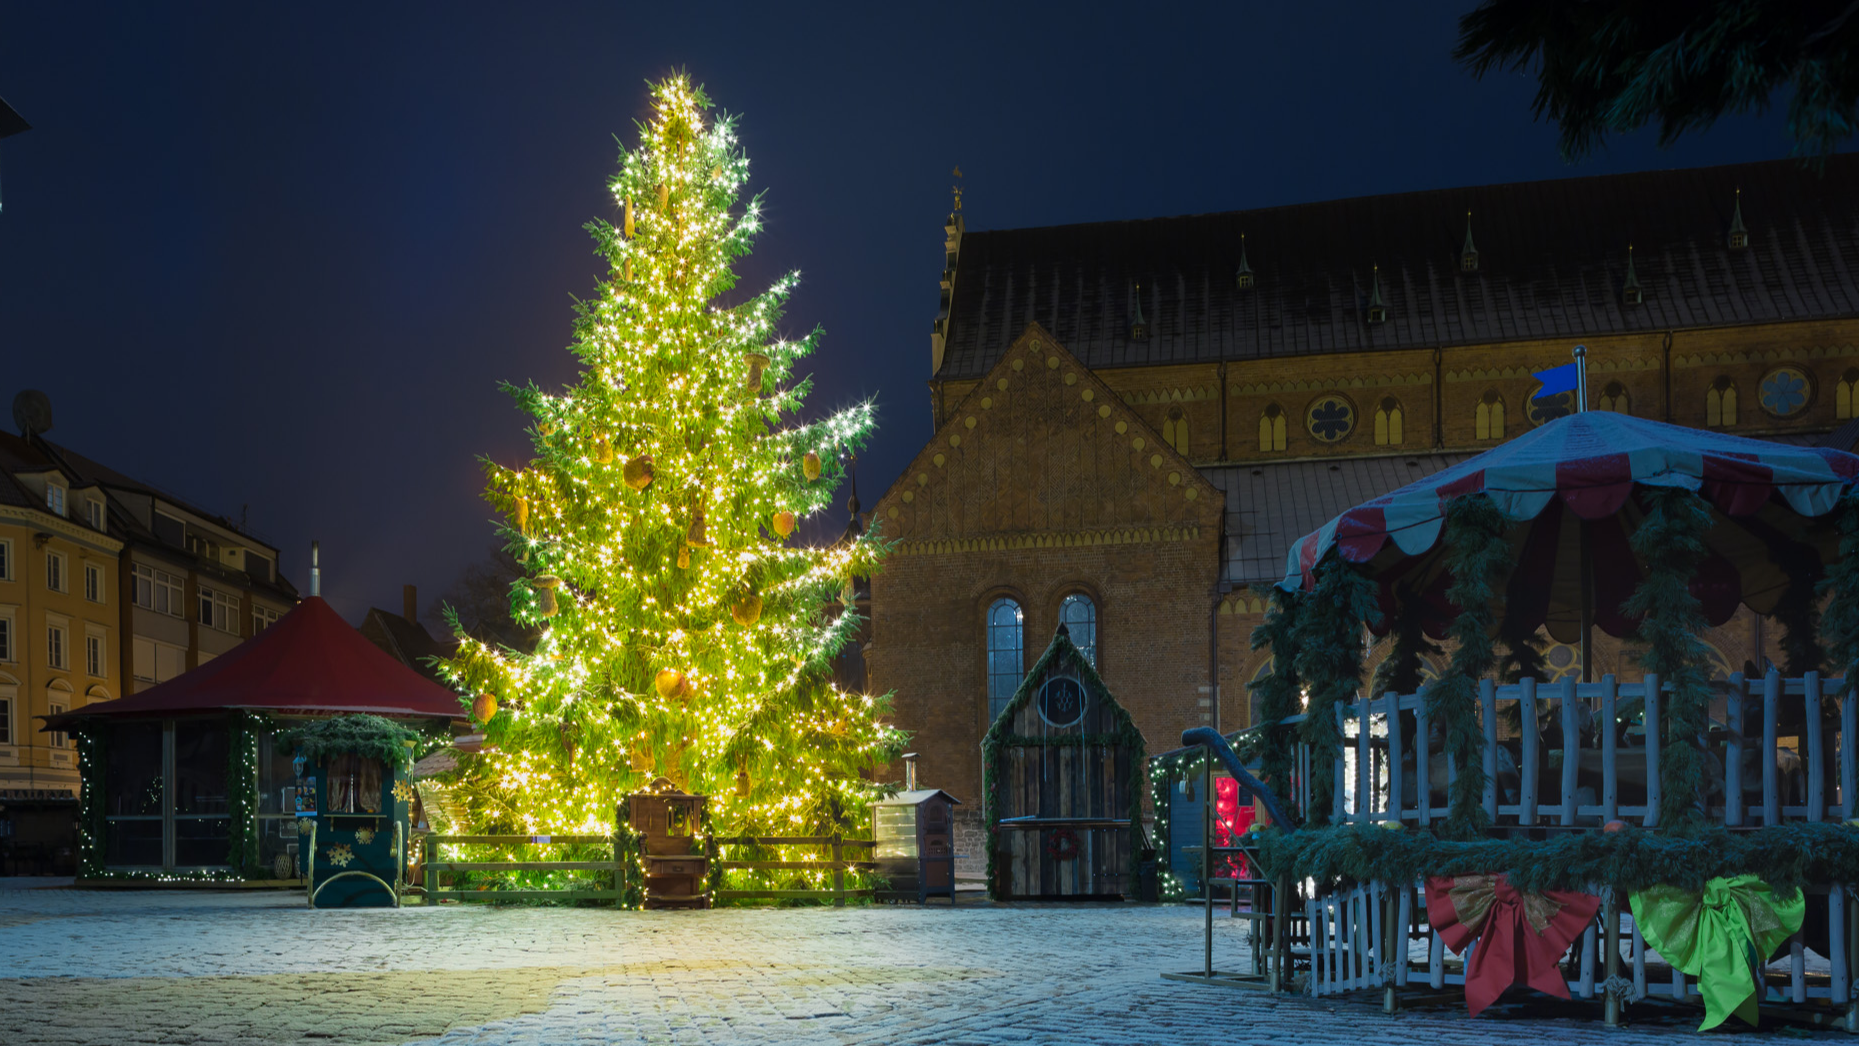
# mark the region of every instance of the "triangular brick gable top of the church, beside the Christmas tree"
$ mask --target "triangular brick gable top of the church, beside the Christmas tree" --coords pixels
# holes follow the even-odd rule
[[[877,503],[905,543],[1164,541],[1221,494],[1045,329],[1030,325]]]

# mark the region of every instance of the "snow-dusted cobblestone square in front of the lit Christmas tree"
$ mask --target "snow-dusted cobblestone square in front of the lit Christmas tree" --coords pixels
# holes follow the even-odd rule
[[[1697,1016],[1467,1020],[1162,981],[1182,907],[307,910],[0,881],[0,1042],[1190,1044],[1690,1039]],[[11,886],[11,888],[9,888]],[[1244,957],[1216,920],[1216,962]]]

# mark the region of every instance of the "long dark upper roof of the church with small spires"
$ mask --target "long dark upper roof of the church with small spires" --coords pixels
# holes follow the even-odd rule
[[[1746,249],[1727,243],[1736,190]],[[1640,305],[1621,295],[1628,247]],[[1383,323],[1366,316],[1374,266]],[[983,375],[1034,321],[1102,370],[1846,316],[1859,154],[967,232],[935,377]]]

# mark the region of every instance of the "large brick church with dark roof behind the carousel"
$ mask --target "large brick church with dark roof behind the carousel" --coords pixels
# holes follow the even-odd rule
[[[864,647],[918,780],[978,812],[982,734],[1061,621],[1151,754],[1249,725],[1270,658],[1251,587],[1342,509],[1565,412],[1532,372],[1576,344],[1591,409],[1850,448],[1859,156],[1052,229],[950,216],[935,435],[874,507],[898,548]],[[1707,639],[1729,673],[1772,637],[1744,609]],[[1632,674],[1595,648],[1597,676]]]

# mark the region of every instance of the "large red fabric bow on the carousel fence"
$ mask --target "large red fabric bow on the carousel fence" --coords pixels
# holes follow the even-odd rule
[[[1504,988],[1530,985],[1569,998],[1560,962],[1601,909],[1601,897],[1573,890],[1524,894],[1504,875],[1426,881],[1426,914],[1452,951],[1478,949],[1465,962],[1465,1009],[1478,1016]]]

